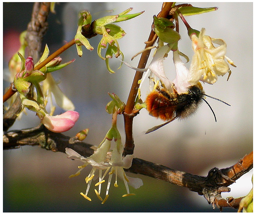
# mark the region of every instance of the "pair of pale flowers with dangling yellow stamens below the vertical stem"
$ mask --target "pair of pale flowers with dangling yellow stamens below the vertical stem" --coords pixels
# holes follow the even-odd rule
[[[134,188],[139,188],[143,185],[142,180],[139,178],[131,178],[125,175],[125,172],[123,171],[123,168],[127,169],[131,167],[131,162],[133,160],[133,155],[127,155],[124,158],[122,158],[122,152],[123,152],[123,145],[120,141],[120,134],[118,135],[118,131],[115,128],[111,128],[109,132],[106,134],[105,139],[100,144],[98,149],[95,151],[95,153],[88,158],[85,158],[75,152],[73,149],[66,148],[66,154],[68,154],[68,158],[71,159],[77,159],[80,161],[83,161],[84,164],[82,166],[78,166],[79,170],[74,175],[71,175],[70,177],[78,176],[80,174],[80,171],[88,166],[89,164],[93,167],[90,171],[89,175],[85,178],[85,182],[88,183],[87,189],[84,193],[80,193],[83,195],[84,198],[91,201],[91,199],[88,197],[88,192],[90,189],[90,185],[92,183],[92,179],[95,179],[96,175],[98,176],[99,180],[97,183],[95,183],[95,186],[98,186],[98,191],[95,189],[95,193],[97,197],[102,201],[102,204],[105,203],[105,201],[108,198],[108,193],[110,189],[111,179],[113,174],[115,174],[115,183],[114,186],[118,187],[117,184],[117,177],[123,179],[125,183],[125,187],[127,189],[127,194],[123,196],[128,195],[134,195],[132,193],[129,193],[128,184],[133,186]],[[116,136],[117,138],[115,138]],[[115,147],[112,151],[110,161],[106,162],[106,158],[108,156],[108,151],[110,149],[111,140],[115,138]],[[104,173],[103,173],[104,171]],[[106,195],[105,199],[103,200],[100,197],[101,192],[101,186],[105,182],[105,176],[109,175],[107,188],[106,188]]]

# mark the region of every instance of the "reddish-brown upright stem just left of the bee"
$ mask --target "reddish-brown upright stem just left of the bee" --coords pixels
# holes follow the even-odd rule
[[[157,17],[167,17],[171,10],[173,2],[164,2],[162,6],[161,12],[157,15]],[[155,32],[151,29],[150,35],[148,37],[148,42],[146,42],[146,47],[153,46],[156,42],[157,37],[155,36]],[[151,49],[144,51],[141,55],[141,59],[138,64],[138,68],[145,68],[149,54]],[[125,106],[125,111],[123,112],[124,124],[125,124],[125,147],[124,147],[124,155],[133,154],[134,149],[134,140],[133,140],[133,117],[136,114],[133,113],[134,102],[136,99],[136,95],[138,93],[138,88],[140,84],[138,81],[142,78],[143,72],[136,71],[135,76],[133,78],[133,83],[131,86],[131,90],[127,99],[127,103]]]

